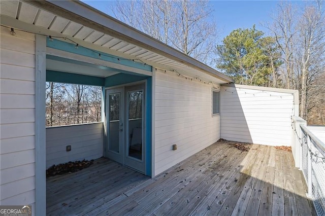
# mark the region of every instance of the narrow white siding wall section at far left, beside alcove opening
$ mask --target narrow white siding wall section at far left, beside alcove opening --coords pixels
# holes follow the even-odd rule
[[[35,209],[35,35],[0,32],[0,204]]]

